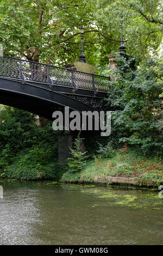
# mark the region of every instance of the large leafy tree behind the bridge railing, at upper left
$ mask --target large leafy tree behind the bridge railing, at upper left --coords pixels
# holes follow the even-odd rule
[[[79,28],[94,33],[92,6],[95,1],[16,0],[0,4],[0,31],[4,53],[35,62],[68,62],[79,56]],[[78,37],[77,37],[78,36]],[[74,38],[77,41],[74,42]],[[89,40],[89,36],[87,37]],[[73,39],[73,40],[72,40]],[[74,43],[74,44],[73,44]],[[89,44],[89,43],[88,43]]]

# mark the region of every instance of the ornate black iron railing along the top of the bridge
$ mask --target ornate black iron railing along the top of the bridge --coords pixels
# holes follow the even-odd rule
[[[0,57],[0,76],[16,78],[18,80],[36,81],[54,85],[85,88],[98,91],[108,91],[110,77],[99,76],[73,69],[59,68],[47,64],[30,62],[7,56]]]

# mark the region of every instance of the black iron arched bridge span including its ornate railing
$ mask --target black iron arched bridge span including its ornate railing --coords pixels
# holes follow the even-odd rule
[[[109,77],[0,57],[0,103],[47,119],[65,106],[79,112],[99,111],[109,81]]]

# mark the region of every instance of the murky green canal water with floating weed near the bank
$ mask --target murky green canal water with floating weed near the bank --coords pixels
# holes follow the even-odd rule
[[[133,187],[1,180],[1,245],[161,245],[163,198]]]

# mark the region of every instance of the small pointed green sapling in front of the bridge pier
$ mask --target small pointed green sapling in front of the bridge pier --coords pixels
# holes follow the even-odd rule
[[[74,141],[73,149],[70,149],[72,157],[69,157],[67,159],[70,172],[78,172],[82,170],[85,163],[86,152],[82,152],[80,150],[80,144],[83,140],[82,138],[80,138],[80,133],[81,131],[79,131],[78,136]]]

